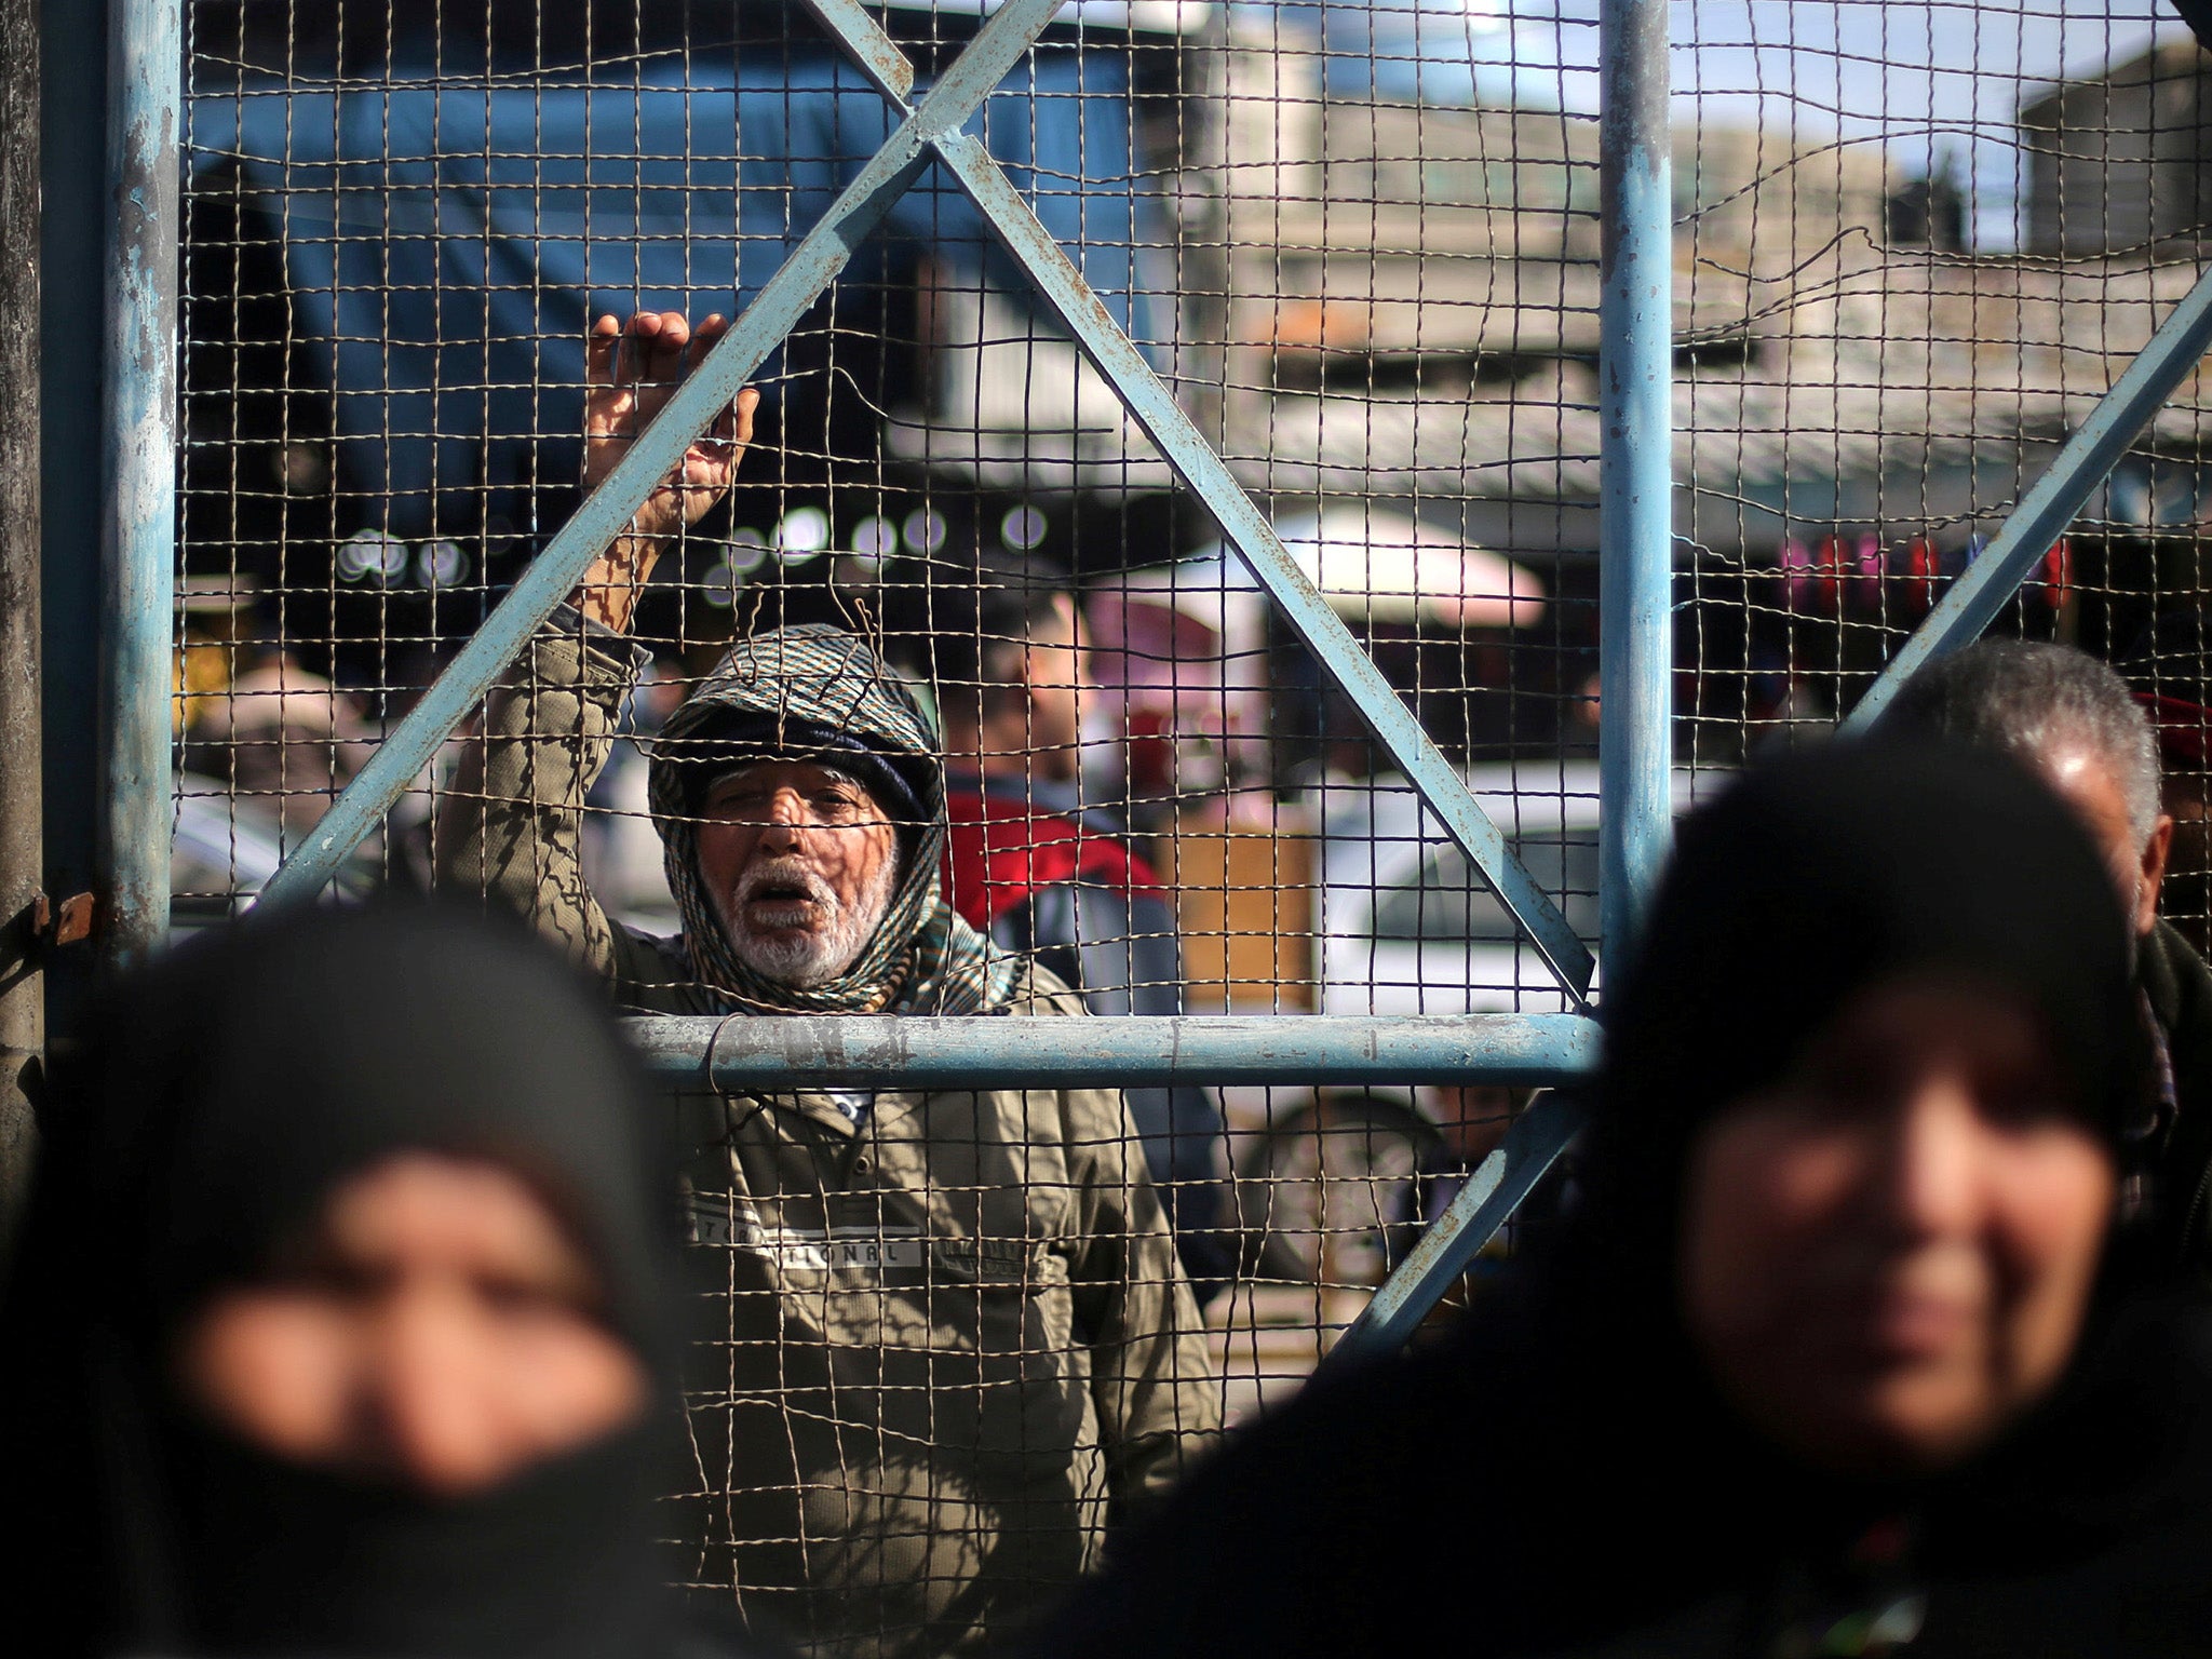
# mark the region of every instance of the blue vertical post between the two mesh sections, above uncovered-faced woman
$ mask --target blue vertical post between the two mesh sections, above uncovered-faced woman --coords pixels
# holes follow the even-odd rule
[[[1670,832],[1674,237],[1668,4],[1599,4],[1599,927],[1615,973]]]

